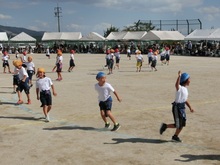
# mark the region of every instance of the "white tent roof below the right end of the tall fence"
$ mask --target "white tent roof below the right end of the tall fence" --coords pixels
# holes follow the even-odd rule
[[[200,40],[210,40],[212,34],[216,29],[196,29],[188,36],[185,37],[185,40],[200,41]]]

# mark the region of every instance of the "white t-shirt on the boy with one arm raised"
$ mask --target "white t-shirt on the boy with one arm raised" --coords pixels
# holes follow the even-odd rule
[[[188,99],[188,89],[184,86],[179,85],[179,90],[176,91],[175,102],[184,103]]]

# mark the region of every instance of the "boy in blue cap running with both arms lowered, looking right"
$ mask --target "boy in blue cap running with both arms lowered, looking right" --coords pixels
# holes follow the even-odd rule
[[[116,122],[114,116],[111,113],[112,97],[110,93],[113,92],[119,102],[121,102],[121,99],[119,98],[117,92],[111,86],[111,84],[106,82],[105,73],[99,72],[96,75],[96,80],[98,81],[98,83],[95,84],[95,90],[98,92],[100,114],[103,121],[105,122],[105,128],[111,127],[110,123],[107,121],[107,117],[109,117],[114,123],[114,127],[111,131],[117,131],[121,126],[119,123]]]

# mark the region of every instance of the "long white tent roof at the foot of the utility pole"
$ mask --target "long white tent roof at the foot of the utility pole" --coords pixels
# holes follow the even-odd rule
[[[78,41],[81,38],[81,32],[45,32],[42,41]]]

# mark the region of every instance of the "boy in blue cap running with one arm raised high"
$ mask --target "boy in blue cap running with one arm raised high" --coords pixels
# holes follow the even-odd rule
[[[192,107],[189,104],[188,99],[188,89],[186,86],[190,84],[190,76],[188,73],[178,72],[178,77],[176,80],[176,97],[175,101],[172,103],[172,112],[174,118],[174,124],[165,124],[162,123],[160,127],[160,134],[167,128],[176,128],[175,134],[172,136],[172,140],[175,142],[182,142],[178,137],[179,133],[182,131],[182,128],[186,126],[186,113],[185,113],[185,104],[189,107],[190,112],[194,112]]]

